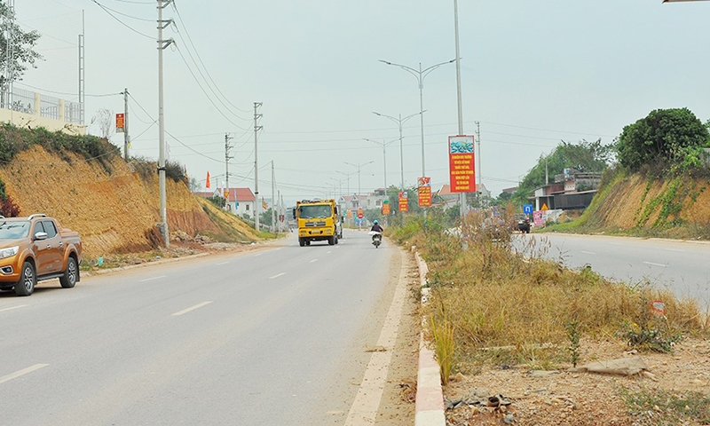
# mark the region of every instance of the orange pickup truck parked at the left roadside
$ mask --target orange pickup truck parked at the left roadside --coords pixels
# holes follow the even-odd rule
[[[82,241],[43,214],[0,216],[0,290],[29,296],[37,281],[59,278],[63,288],[79,280]]]

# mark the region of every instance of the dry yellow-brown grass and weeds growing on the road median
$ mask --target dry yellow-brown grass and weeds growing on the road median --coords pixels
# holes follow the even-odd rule
[[[467,218],[468,249],[443,233],[427,234],[426,242],[421,235],[412,239],[430,266],[429,313],[455,329],[456,359],[462,363],[567,362],[570,323],[581,335],[596,338],[621,338],[631,326],[666,335],[707,334],[707,317],[695,301],[643,283],[604,280],[589,268],[565,269],[540,256],[544,245],[514,250],[509,235],[491,238],[483,232],[483,219]],[[665,302],[665,319],[650,314],[653,300]]]

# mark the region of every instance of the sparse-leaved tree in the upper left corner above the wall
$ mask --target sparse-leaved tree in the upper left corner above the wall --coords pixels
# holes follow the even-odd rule
[[[34,50],[40,34],[35,30],[28,33],[22,31],[15,21],[15,13],[5,3],[0,3],[0,22],[0,69],[10,65],[12,70],[9,78],[6,75],[0,76],[0,83],[4,86],[21,81],[28,67],[36,68],[36,61],[43,57]]]

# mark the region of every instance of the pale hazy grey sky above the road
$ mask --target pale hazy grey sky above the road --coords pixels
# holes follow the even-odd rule
[[[15,3],[23,28],[43,34],[46,59],[16,87],[77,99],[83,10],[87,122],[99,108],[122,112],[117,93],[128,88],[131,154],[157,159],[157,2]],[[267,196],[271,161],[289,200],[332,195],[341,185],[347,192],[338,172],[351,173],[356,192],[357,169],[346,162],[373,162],[361,168],[363,193],[382,187],[382,147],[364,139],[398,139],[398,125],[372,112],[417,114],[419,89],[413,75],[378,59],[426,68],[455,57],[453,0],[176,5],[164,10],[177,25],[165,30],[177,42],[164,51],[170,160],[202,182],[208,171],[221,182],[228,132],[230,184],[253,189],[253,102],[263,102],[258,160]],[[497,195],[560,140],[608,144],[653,109],[687,106],[705,122],[708,21],[710,2],[459,0],[464,133],[480,122],[484,185]],[[425,78],[423,98],[426,172],[438,189],[448,183],[446,138],[457,133],[454,64]],[[406,185],[421,175],[420,131],[415,115],[404,127]],[[122,146],[121,134],[111,140]],[[399,185],[398,140],[387,149],[386,178]]]

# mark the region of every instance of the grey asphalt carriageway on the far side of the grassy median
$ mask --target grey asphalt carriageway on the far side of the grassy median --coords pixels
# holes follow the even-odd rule
[[[676,296],[710,304],[710,243],[561,233],[533,233],[516,239],[517,247],[534,239],[537,253],[572,268],[589,264],[614,280],[648,280]]]

